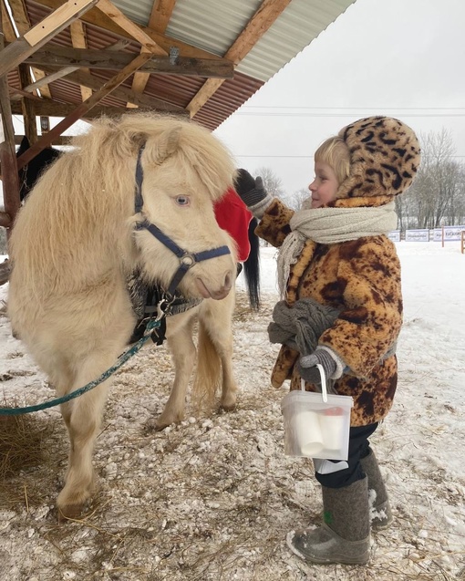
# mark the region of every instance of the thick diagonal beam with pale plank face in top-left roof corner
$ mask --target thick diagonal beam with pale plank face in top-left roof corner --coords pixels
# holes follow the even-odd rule
[[[25,35],[16,38],[3,50],[0,77],[17,67],[26,57],[43,47],[50,38],[56,36],[97,3],[98,0],[67,0],[66,4],[33,26]]]

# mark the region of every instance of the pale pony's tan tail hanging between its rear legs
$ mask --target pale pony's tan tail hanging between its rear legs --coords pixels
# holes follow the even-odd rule
[[[222,362],[202,317],[199,317],[197,368],[192,386],[192,402],[197,413],[211,414],[221,384]]]

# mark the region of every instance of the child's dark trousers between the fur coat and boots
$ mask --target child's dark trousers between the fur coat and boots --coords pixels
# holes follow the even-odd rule
[[[368,438],[376,429],[377,423],[360,426],[359,428],[351,428],[349,431],[348,468],[340,470],[339,472],[332,472],[331,474],[315,472],[316,480],[326,488],[343,488],[357,480],[365,478],[365,472],[362,470],[360,460],[367,457],[370,451]],[[328,462],[337,463],[339,461],[330,460]]]

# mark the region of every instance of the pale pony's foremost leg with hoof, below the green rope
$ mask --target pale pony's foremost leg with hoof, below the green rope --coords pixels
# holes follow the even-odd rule
[[[110,365],[111,362],[108,367]],[[102,369],[101,361],[98,362],[98,365],[87,365],[85,372],[78,373],[78,379],[72,389],[78,389],[86,385],[88,381],[98,378],[103,370],[105,369]],[[107,399],[109,383],[110,380],[107,379],[97,388],[61,406],[69,434],[70,451],[66,484],[57,498],[59,516],[78,517],[90,496],[95,492],[92,454]]]

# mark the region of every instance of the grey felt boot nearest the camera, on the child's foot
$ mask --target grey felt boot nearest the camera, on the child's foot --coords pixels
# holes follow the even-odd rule
[[[291,531],[287,545],[311,563],[365,565],[369,558],[370,520],[367,478],[346,488],[325,488],[325,523],[314,530]]]

